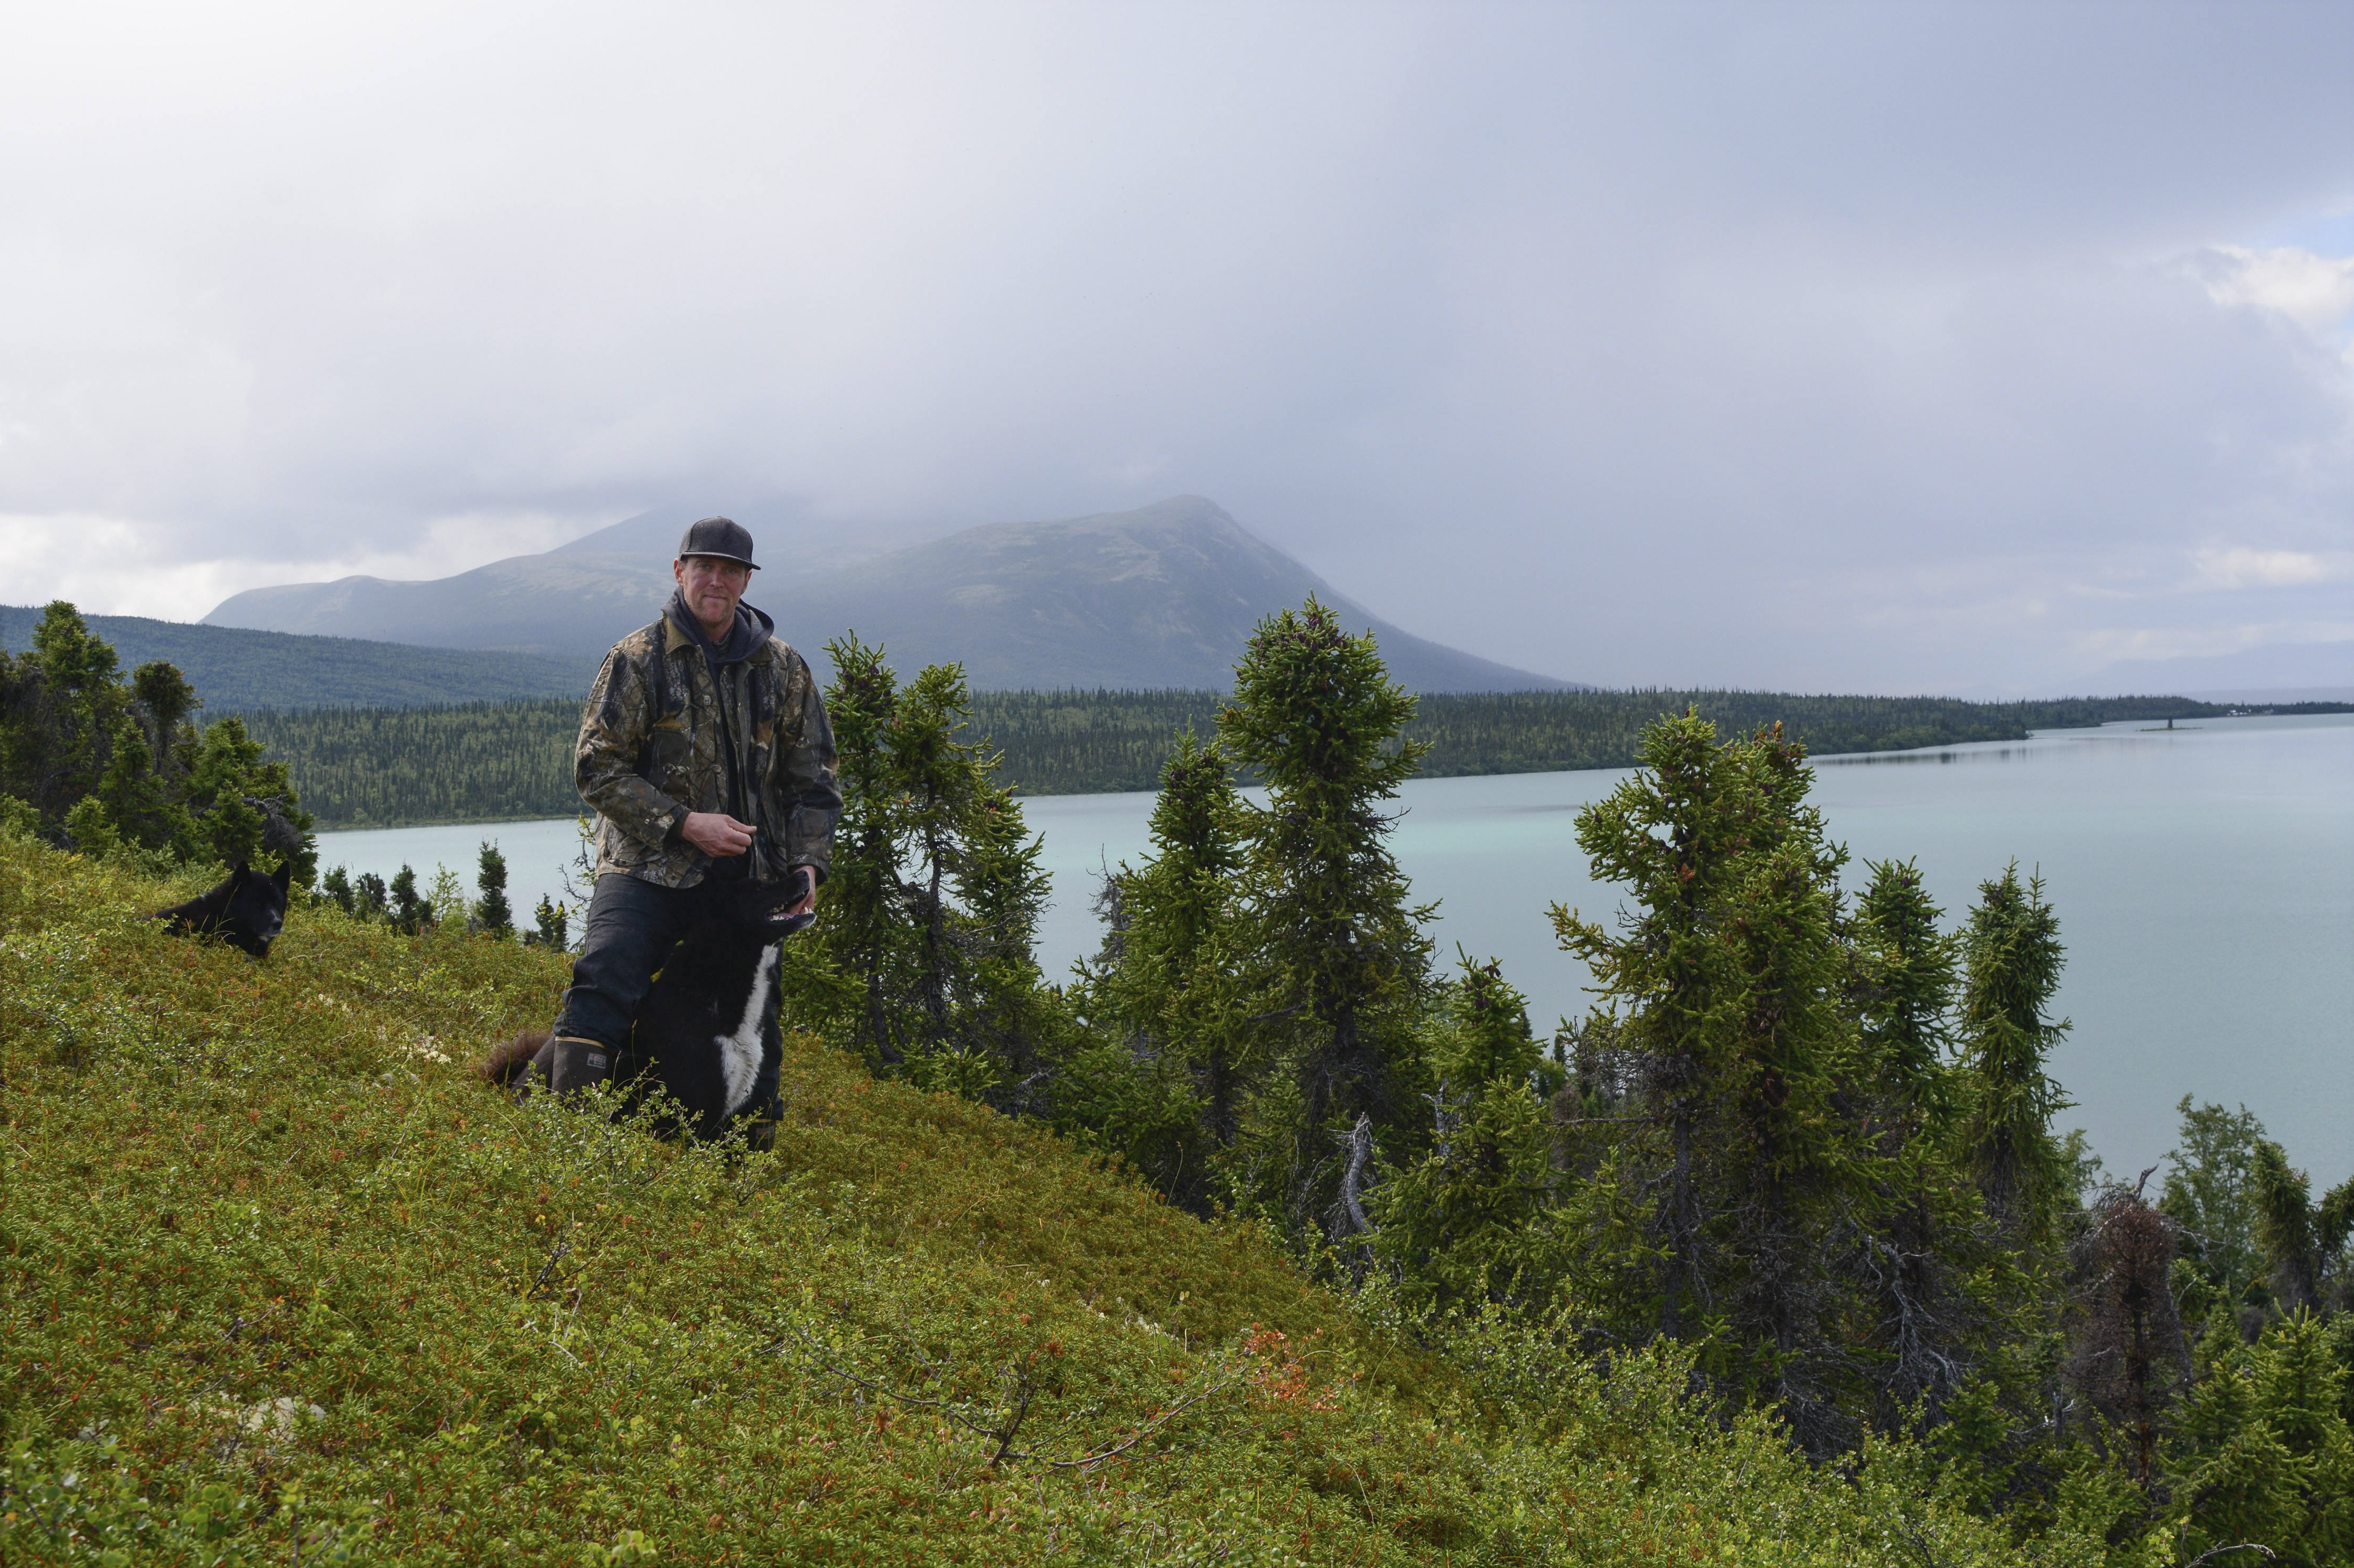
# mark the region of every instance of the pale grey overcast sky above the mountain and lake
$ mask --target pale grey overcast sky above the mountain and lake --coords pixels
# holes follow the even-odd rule
[[[16,7],[0,600],[1196,492],[1556,676],[2057,687],[2354,638],[2349,318],[2340,0]]]

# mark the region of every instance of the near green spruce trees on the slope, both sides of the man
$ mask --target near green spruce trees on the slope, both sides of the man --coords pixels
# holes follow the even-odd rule
[[[308,826],[242,727],[193,730],[153,666],[122,683],[54,622],[0,666],[0,810],[181,859],[266,855],[264,791]],[[2159,1194],[2102,1172],[2048,1074],[2069,1024],[2041,883],[1989,866],[1944,911],[1909,862],[1853,866],[1789,725],[1723,735],[1685,704],[1643,727],[1577,819],[1631,909],[1551,911],[1596,1005],[1540,1036],[1495,961],[1431,951],[1389,852],[1429,699],[1314,598],[1165,742],[1153,852],[1104,878],[1069,984],[1038,968],[1040,845],[960,671],[899,678],[852,636],[829,655],[845,815],[782,986],[873,1076],[1252,1220],[1441,1351],[1483,1321],[1563,1358],[1678,1342],[1723,1413],[1773,1413],[1822,1464],[1907,1436],[2020,1540],[2067,1521],[2116,1563],[2354,1561],[2354,1180],[2316,1196],[2246,1109],[2189,1097]],[[68,768],[59,735],[101,742]],[[207,756],[242,758],[233,789],[221,760],[195,784]],[[337,873],[315,911],[508,937],[490,845],[478,888]]]

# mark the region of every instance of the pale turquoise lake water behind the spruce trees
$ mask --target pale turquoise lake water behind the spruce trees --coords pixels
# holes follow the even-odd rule
[[[1547,1031],[1584,1012],[1584,968],[1554,946],[1547,904],[1620,906],[1587,881],[1577,808],[1624,772],[1417,779],[1394,845],[1431,937],[1499,958]],[[2027,742],[1815,758],[1815,803],[1855,862],[1914,859],[1956,923],[2017,857],[2041,871],[2069,949],[2057,1010],[2074,1031],[2053,1074],[2112,1172],[2173,1147],[2182,1095],[2246,1104],[2319,1189],[2354,1172],[2354,716],[2227,718],[2201,727],[2053,730]],[[1055,902],[1048,972],[1092,954],[1104,864],[1142,859],[1153,796],[1043,796]],[[518,921],[563,897],[565,822],[322,833],[320,866],[391,878],[403,862],[473,883],[483,838],[508,859]]]

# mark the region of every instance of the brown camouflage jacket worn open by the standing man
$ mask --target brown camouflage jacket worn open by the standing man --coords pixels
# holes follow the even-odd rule
[[[826,873],[843,796],[810,664],[770,638],[749,659],[720,664],[713,683],[701,645],[664,617],[612,645],[581,709],[572,777],[598,812],[598,876],[624,871],[661,888],[704,881],[711,857],[678,829],[687,812],[730,810],[730,732],[742,817],[756,829],[753,876],[777,881],[793,866]]]

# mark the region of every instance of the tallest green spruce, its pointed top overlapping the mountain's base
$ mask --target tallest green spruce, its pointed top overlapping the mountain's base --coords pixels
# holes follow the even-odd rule
[[[1264,1026],[1250,1050],[1266,1081],[1243,1111],[1236,1175],[1245,1203],[1295,1241],[1358,1231],[1342,1180],[1363,1168],[1365,1135],[1422,1137],[1429,939],[1382,808],[1424,753],[1401,739],[1412,713],[1372,638],[1309,598],[1259,622],[1217,716],[1219,746],[1269,793],[1245,812],[1238,932],[1250,994],[1238,1026]]]

